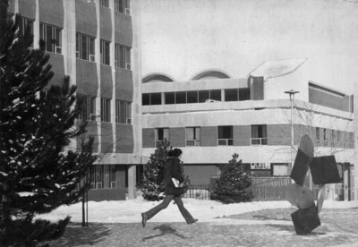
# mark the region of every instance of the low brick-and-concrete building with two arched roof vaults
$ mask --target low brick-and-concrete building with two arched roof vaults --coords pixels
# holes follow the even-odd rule
[[[209,183],[210,176],[219,173],[218,166],[234,153],[252,172],[290,175],[300,139],[308,134],[315,155],[335,155],[345,185],[351,187],[353,96],[310,81],[305,62],[267,61],[240,79],[218,70],[200,72],[190,81],[173,81],[164,73],[145,76],[141,90],[144,156],[158,141],[170,141],[183,149],[185,172],[192,184]],[[299,91],[292,115],[285,93],[291,89]]]

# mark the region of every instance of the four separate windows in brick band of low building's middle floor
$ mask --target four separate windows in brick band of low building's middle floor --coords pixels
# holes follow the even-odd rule
[[[156,145],[165,140],[169,140],[169,128],[157,128],[155,130]],[[267,125],[251,125],[251,145],[267,144]],[[200,127],[185,128],[185,145],[200,146]],[[217,126],[217,145],[234,145],[233,126]]]

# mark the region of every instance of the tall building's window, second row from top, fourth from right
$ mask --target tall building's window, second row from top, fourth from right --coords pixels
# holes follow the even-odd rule
[[[46,23],[39,23],[39,38],[45,41],[45,50],[62,54],[61,29]]]

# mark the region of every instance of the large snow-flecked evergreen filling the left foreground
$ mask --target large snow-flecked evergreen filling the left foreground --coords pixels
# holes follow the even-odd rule
[[[32,35],[21,35],[20,16],[6,18],[0,2],[0,245],[36,246],[64,233],[69,217],[50,224],[33,221],[60,205],[81,200],[90,181],[81,183],[94,157],[93,139],[81,150],[69,148],[85,132],[77,124],[81,102],[69,78],[49,86],[53,77],[44,43],[30,48]]]

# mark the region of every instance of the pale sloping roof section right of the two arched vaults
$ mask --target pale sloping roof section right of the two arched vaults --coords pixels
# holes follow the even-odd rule
[[[299,68],[307,58],[300,59],[285,59],[285,60],[268,60],[263,64],[260,64],[254,69],[250,76],[253,77],[264,77],[264,79],[275,78],[294,72]]]

